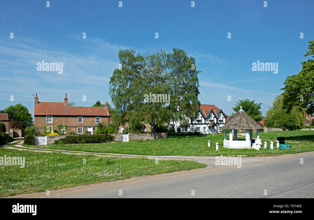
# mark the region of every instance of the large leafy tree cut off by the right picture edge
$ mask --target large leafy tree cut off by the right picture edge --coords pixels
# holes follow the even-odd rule
[[[314,40],[309,41],[309,51],[304,56],[314,57]],[[293,106],[306,109],[307,114],[314,112],[314,60],[309,59],[302,64],[302,70],[288,76],[284,81],[283,106],[290,111]]]

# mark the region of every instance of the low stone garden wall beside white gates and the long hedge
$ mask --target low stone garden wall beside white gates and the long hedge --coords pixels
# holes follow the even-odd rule
[[[114,141],[121,141],[121,134],[110,134],[114,137]],[[61,138],[67,136],[78,136],[76,135],[48,135],[47,144],[54,144],[55,141],[60,140]],[[168,133],[140,133],[140,134],[129,134],[129,141],[132,140],[146,140],[146,139],[159,139],[159,138],[168,138]]]

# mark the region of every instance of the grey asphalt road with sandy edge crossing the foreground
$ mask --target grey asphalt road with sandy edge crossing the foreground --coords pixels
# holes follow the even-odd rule
[[[303,163],[300,164],[300,158]],[[265,157],[236,166],[138,177],[20,195],[45,198],[313,198],[314,152]],[[122,191],[119,191],[122,190]],[[194,190],[194,195],[192,194]],[[267,195],[265,194],[267,190]],[[122,195],[119,195],[119,193]],[[247,204],[243,204],[247,205]]]

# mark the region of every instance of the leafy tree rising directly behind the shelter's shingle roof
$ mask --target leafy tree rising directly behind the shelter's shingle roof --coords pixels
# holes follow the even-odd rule
[[[242,106],[242,109],[255,121],[259,122],[263,120],[262,112],[260,111],[263,103],[255,103],[255,99],[252,101],[250,99],[242,99],[235,102],[235,107],[232,108],[235,112],[239,111]]]

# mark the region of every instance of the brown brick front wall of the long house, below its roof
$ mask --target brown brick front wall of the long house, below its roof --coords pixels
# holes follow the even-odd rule
[[[34,125],[38,127],[41,134],[44,132],[44,126],[52,126],[52,130],[58,130],[58,125],[67,125],[68,129],[71,129],[75,134],[78,133],[78,127],[83,127],[83,134],[87,131],[87,127],[93,127],[93,134],[96,132],[96,116],[81,116],[83,117],[83,123],[78,123],[78,116],[52,116],[52,123],[46,123],[46,115],[35,115]],[[109,124],[109,116],[100,116],[100,122]],[[67,131],[66,133],[68,133]]]

